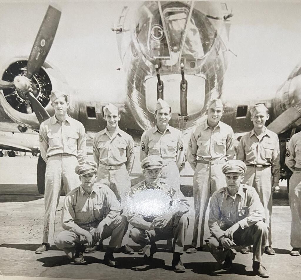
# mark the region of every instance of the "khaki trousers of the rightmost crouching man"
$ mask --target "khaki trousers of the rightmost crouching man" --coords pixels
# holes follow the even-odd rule
[[[253,261],[261,262],[268,238],[268,226],[265,222],[257,222],[247,228],[239,228],[233,234],[233,241],[237,246],[250,246],[253,244]],[[224,249],[215,236],[210,236],[206,241],[210,253],[218,263],[222,263],[231,249]]]

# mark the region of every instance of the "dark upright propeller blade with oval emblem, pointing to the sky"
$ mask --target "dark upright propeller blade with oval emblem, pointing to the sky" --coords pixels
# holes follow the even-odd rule
[[[33,74],[38,72],[43,65],[54,40],[60,17],[61,11],[52,6],[48,7],[29,55],[26,73],[27,78],[30,78]]]

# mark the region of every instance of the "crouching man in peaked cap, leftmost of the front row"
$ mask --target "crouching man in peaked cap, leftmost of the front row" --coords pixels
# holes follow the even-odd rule
[[[95,183],[95,162],[85,163],[75,168],[81,184],[65,197],[62,226],[55,245],[64,250],[74,263],[84,263],[83,252],[86,246],[111,237],[104,254],[104,263],[115,266],[114,248],[120,248],[128,228],[126,217],[115,194],[107,185]]]

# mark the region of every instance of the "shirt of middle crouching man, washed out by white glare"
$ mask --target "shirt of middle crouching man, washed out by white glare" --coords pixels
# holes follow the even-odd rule
[[[181,191],[168,187],[166,181],[160,179],[152,188],[147,187],[145,181],[133,186],[126,197],[124,208],[131,225],[149,230],[157,216],[163,216],[169,211],[173,216],[182,216],[189,211],[189,204]]]

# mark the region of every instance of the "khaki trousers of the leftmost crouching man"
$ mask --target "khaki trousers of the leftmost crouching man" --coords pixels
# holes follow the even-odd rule
[[[95,232],[98,224],[92,227],[82,227],[86,231],[89,231],[92,235]],[[101,240],[104,240],[111,236],[109,241],[109,247],[120,248],[124,234],[128,229],[128,223],[125,216],[117,216],[116,219],[110,225],[104,225],[104,230],[101,234]],[[75,253],[75,243],[85,244],[83,236],[74,233],[73,231],[64,230],[61,231],[55,239],[55,245],[58,249],[64,250],[66,255],[70,252]],[[88,247],[88,244],[86,245]]]

